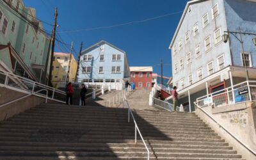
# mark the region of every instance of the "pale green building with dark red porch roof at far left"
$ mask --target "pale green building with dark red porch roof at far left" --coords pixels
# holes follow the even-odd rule
[[[47,83],[51,41],[35,17],[22,0],[0,1],[0,69]]]

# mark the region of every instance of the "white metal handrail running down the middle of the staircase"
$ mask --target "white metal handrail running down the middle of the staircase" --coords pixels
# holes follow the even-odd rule
[[[134,135],[134,136],[135,136],[135,143],[137,143],[137,131],[138,131],[138,133],[140,134],[140,138],[141,138],[141,140],[143,141],[143,144],[145,145],[145,148],[146,148],[146,150],[147,150],[147,152],[148,152],[148,160],[149,160],[149,158],[150,158],[150,152],[149,152],[148,147],[147,147],[147,144],[145,143],[145,140],[144,140],[144,138],[143,138],[143,136],[142,136],[142,134],[141,134],[141,132],[140,132],[140,129],[139,129],[137,123],[136,123],[136,120],[135,120],[135,118],[134,118],[134,116],[133,116],[133,114],[132,114],[130,105],[129,105],[129,103],[128,103],[126,97],[125,97],[125,95],[124,95],[124,102],[126,102],[126,104],[127,104],[127,106],[128,106],[128,123],[130,123],[130,115],[132,115],[132,119],[133,119],[133,122],[134,122],[134,125],[135,125],[135,133],[134,133],[134,134],[135,134],[135,135]]]

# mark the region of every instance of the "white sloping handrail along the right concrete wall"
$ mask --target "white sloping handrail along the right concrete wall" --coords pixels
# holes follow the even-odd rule
[[[232,136],[232,138],[234,138],[241,145],[243,145],[244,148],[246,148],[249,152],[251,152],[254,156],[256,156],[256,152],[254,150],[252,150],[252,148],[248,147],[246,144],[243,143],[243,141],[239,140],[234,134],[232,134],[232,132],[228,131],[228,129],[226,129],[215,118],[213,118],[211,115],[209,115],[209,113],[204,111],[204,109],[202,109],[196,102],[194,102],[194,104],[196,105],[197,108],[199,108],[201,111],[203,111],[205,113],[205,115],[209,116],[209,118],[211,118],[217,125],[219,125],[219,127],[221,127],[224,131],[226,131],[228,134],[230,134],[230,136]]]

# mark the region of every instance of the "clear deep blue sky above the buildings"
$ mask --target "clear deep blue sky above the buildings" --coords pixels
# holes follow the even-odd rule
[[[59,35],[67,44],[74,41],[78,53],[81,41],[83,48],[106,40],[127,52],[130,66],[153,66],[160,74],[160,61],[163,59],[163,75],[172,76],[171,51],[168,49],[188,0],[24,0],[26,6],[36,9],[36,17],[53,24],[54,7],[58,7]],[[150,19],[160,15],[176,13],[115,26],[137,20]],[[52,26],[44,24],[47,31]],[[92,30],[90,30],[93,28]],[[84,29],[83,31],[74,31]],[[73,31],[61,33],[61,31]],[[57,44],[56,51],[68,52]],[[62,48],[62,49],[61,49]],[[75,54],[76,56],[76,54]]]

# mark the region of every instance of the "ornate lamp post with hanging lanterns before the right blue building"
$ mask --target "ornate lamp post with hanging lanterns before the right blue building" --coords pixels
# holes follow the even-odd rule
[[[239,28],[239,31],[224,31],[224,35],[222,35],[222,39],[223,39],[223,42],[224,43],[227,43],[228,42],[228,36],[229,36],[229,33],[231,35],[233,35],[234,37],[236,37],[236,39],[240,42],[241,44],[241,47],[242,47],[242,56],[243,56],[243,65],[244,65],[244,70],[246,71],[246,81],[249,81],[249,74],[248,74],[248,70],[247,70],[247,66],[246,66],[246,63],[245,63],[245,58],[244,58],[244,42],[243,42],[243,39],[242,39],[242,34],[243,35],[254,35],[255,37],[252,39],[253,41],[253,44],[256,45],[256,33],[246,33],[246,32],[241,32],[241,28]],[[237,34],[240,35],[240,38],[237,37]]]

